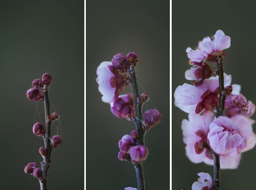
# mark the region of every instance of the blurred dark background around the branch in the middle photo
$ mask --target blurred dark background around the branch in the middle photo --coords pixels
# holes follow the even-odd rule
[[[133,165],[117,158],[118,141],[135,125],[110,112],[95,81],[101,62],[132,51],[139,56],[138,82],[156,106],[148,102],[143,111],[157,108],[163,116],[145,136],[146,189],[170,188],[169,11],[169,1],[86,1],[86,189],[137,188]],[[123,93],[128,92],[131,84]]]

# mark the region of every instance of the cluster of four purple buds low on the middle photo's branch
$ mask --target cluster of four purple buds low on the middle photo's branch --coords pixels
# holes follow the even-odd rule
[[[118,159],[120,161],[131,160],[132,162],[141,162],[147,159],[148,148],[143,145],[136,145],[139,133],[136,130],[131,131],[130,135],[124,135],[118,142],[120,152]]]

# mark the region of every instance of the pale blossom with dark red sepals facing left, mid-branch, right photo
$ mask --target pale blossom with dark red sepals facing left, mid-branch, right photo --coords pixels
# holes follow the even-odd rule
[[[224,73],[224,78],[226,87],[231,84],[232,77]],[[216,109],[219,106],[219,78],[208,78],[198,87],[184,83],[176,88],[174,98],[174,105],[186,113]]]

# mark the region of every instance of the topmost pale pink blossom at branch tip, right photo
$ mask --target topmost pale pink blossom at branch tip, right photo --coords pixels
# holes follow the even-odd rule
[[[216,56],[223,55],[223,49],[230,47],[231,39],[229,36],[225,36],[222,30],[217,30],[211,39],[209,36],[205,37],[203,41],[198,43],[196,50],[192,50],[190,47],[186,49],[188,57],[194,62],[204,62],[215,60]]]

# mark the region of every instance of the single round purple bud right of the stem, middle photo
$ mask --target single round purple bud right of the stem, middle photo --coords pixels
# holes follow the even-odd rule
[[[162,119],[162,115],[157,109],[147,110],[143,116],[145,123],[151,127],[157,125]]]

